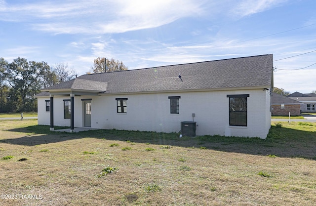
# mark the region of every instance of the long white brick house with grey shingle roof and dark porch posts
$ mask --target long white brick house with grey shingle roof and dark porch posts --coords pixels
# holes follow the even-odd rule
[[[266,138],[273,55],[82,75],[42,89],[39,124]]]

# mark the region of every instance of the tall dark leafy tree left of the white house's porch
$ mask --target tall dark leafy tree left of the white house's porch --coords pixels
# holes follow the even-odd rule
[[[28,62],[20,57],[7,65],[8,82],[16,92],[15,98],[18,98],[18,96],[21,98],[21,105],[18,110],[24,112],[27,109],[27,103],[34,102],[34,94],[39,92],[41,87],[40,77],[44,74],[44,71],[48,70],[49,66],[46,62]],[[28,110],[30,110],[30,107],[28,107]]]

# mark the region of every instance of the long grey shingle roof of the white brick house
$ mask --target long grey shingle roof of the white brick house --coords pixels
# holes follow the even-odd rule
[[[105,93],[220,89],[233,87],[269,87],[272,84],[273,55],[260,55],[190,64],[178,64],[101,74],[82,75],[75,80],[80,89],[107,83]],[[179,74],[183,82],[178,78]],[[90,83],[84,83],[83,80]],[[98,82],[93,84],[92,82]],[[81,84],[82,83],[82,84]],[[77,85],[77,84],[76,84]],[[70,88],[64,82],[42,91]],[[99,88],[98,88],[99,89]]]

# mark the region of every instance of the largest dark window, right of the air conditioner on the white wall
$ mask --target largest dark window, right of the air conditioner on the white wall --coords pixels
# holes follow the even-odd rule
[[[229,125],[247,126],[247,97],[249,94],[227,95],[229,97]]]

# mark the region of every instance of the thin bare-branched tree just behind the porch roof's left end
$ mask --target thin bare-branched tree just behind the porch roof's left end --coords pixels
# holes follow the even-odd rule
[[[55,74],[58,83],[67,82],[78,75],[73,67],[68,68],[67,63],[55,64],[55,66],[52,67],[52,72]]]

